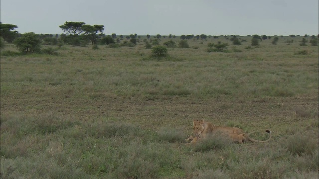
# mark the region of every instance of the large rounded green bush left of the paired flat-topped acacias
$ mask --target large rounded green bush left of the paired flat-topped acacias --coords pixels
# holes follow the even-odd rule
[[[33,32],[22,34],[22,36],[16,38],[13,43],[16,45],[18,50],[24,54],[41,52],[41,40],[38,35]]]

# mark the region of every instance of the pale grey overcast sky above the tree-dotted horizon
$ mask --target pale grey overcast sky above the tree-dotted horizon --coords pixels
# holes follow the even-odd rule
[[[66,21],[117,35],[318,35],[319,0],[0,0],[19,33],[61,34]]]

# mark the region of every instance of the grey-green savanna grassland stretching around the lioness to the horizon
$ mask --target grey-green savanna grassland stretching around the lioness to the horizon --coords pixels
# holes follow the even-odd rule
[[[161,59],[143,38],[135,47],[64,45],[57,55],[7,56],[16,50],[7,45],[1,178],[318,179],[318,46],[279,37],[249,48],[252,37],[240,38],[188,40]],[[208,53],[218,41],[228,52]],[[273,138],[186,146],[194,119]]]

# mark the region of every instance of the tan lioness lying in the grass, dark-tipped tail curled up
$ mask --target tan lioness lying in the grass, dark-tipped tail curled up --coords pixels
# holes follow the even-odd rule
[[[269,139],[265,141],[260,141],[260,140],[255,140],[250,138],[247,134],[244,133],[242,129],[239,129],[237,127],[214,126],[210,122],[206,122],[204,120],[197,120],[197,119],[193,121],[193,128],[194,128],[194,135],[198,138],[203,138],[203,139],[206,138],[208,135],[215,134],[216,132],[219,132],[222,134],[228,134],[228,136],[234,142],[239,142],[239,143],[243,143],[246,139],[251,142],[268,142],[271,139],[270,130],[266,130],[266,132],[270,134]],[[192,143],[195,143],[196,141]]]

